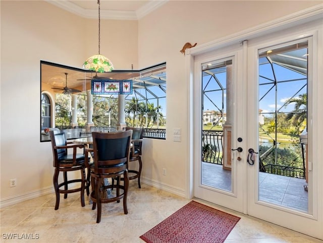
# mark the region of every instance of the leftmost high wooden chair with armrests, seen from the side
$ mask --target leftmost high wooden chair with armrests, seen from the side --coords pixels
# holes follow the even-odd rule
[[[89,187],[89,181],[87,181],[85,177],[86,166],[84,154],[77,153],[77,148],[83,148],[84,145],[68,143],[65,133],[55,133],[54,131],[49,131],[49,136],[53,154],[53,166],[55,167],[55,172],[53,175],[53,186],[56,195],[55,210],[59,209],[60,194],[64,194],[64,199],[66,199],[69,193],[76,192],[80,192],[81,205],[84,207],[84,190]],[[73,149],[73,153],[68,153],[68,149]],[[69,180],[67,172],[76,170],[81,172],[81,178]],[[63,172],[64,181],[62,183],[59,183],[60,172]],[[80,183],[80,186],[69,189],[69,185],[75,183]]]

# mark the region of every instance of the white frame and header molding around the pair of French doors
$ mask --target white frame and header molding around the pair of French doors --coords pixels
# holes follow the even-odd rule
[[[189,149],[189,162],[186,167],[186,178],[187,178],[187,183],[186,183],[186,197],[187,198],[192,198],[194,195],[193,188],[194,188],[194,89],[193,89],[193,84],[194,84],[194,57],[197,55],[200,55],[205,52],[213,51],[215,49],[223,48],[225,46],[232,45],[237,42],[243,42],[246,39],[253,39],[259,36],[263,36],[266,34],[278,32],[281,30],[288,30],[293,27],[298,27],[303,32],[307,32],[307,25],[309,22],[311,23],[316,23],[321,24],[322,21],[322,14],[323,13],[323,5],[319,6],[314,6],[312,8],[306,9],[304,11],[277,19],[275,21],[271,21],[265,24],[262,24],[260,26],[256,26],[254,28],[247,29],[245,31],[239,32],[237,34],[227,36],[225,38],[221,38],[215,41],[212,41],[210,43],[206,43],[204,45],[199,45],[197,47],[194,47],[192,49],[187,49],[186,50],[186,70],[187,70],[187,82],[189,83],[188,87],[188,95],[189,95],[189,112],[188,112],[188,122],[189,126],[188,129],[188,135],[189,135],[189,142],[188,142],[188,149]],[[319,28],[318,32],[316,32],[316,35],[318,36],[318,47],[317,51],[318,53],[322,53],[322,28]],[[304,36],[299,36],[299,38],[304,37]],[[317,53],[316,53],[317,54]],[[316,58],[317,64],[320,65],[319,67],[323,66],[323,60],[321,56],[317,56]],[[314,74],[316,75],[316,74]],[[322,70],[317,70],[317,77],[316,80],[323,80],[323,75],[322,75]],[[320,101],[322,101],[322,83],[317,83],[316,84],[316,93],[315,97],[318,98]],[[319,93],[318,93],[319,92]],[[315,113],[316,112],[316,113]],[[323,128],[321,126],[321,121],[319,120],[319,115],[323,114],[323,107],[322,106],[316,106],[315,107],[315,112],[313,112],[313,117],[311,119],[312,123],[316,123],[315,127],[317,128],[317,133],[313,134],[312,138],[312,145],[313,145],[313,159],[319,159],[320,158],[320,152],[323,151],[323,145],[321,142],[321,138],[319,138],[318,134],[323,134]],[[320,123],[320,126],[319,126]],[[251,146],[251,145],[248,145]],[[320,160],[321,161],[321,160]],[[313,165],[314,166],[314,165]],[[316,196],[317,197],[317,220],[322,222],[323,221],[323,199],[321,195],[323,195],[323,165],[322,163],[318,164],[315,163],[316,170],[318,171],[319,178],[317,178],[318,185],[314,186]],[[247,200],[247,199],[244,199]],[[247,204],[246,204],[247,205]],[[247,208],[245,208],[244,213],[247,211]],[[279,224],[279,222],[276,222]],[[317,238],[323,239],[323,224],[321,226],[320,232],[305,232],[309,235],[312,235]]]

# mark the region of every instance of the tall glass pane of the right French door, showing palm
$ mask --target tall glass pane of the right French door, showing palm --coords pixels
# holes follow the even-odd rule
[[[258,53],[258,200],[304,212],[307,55],[307,41]]]

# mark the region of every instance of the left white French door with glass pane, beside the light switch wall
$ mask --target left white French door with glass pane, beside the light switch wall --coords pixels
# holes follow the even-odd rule
[[[243,212],[244,166],[236,161],[244,153],[232,152],[245,147],[234,138],[246,137],[239,63],[240,44],[195,57],[194,196]]]

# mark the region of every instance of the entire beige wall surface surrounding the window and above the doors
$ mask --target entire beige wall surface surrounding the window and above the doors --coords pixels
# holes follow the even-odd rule
[[[116,69],[167,62],[167,140],[146,139],[143,177],[185,191],[185,42],[198,45],[321,1],[171,1],[137,21],[101,20],[101,53]],[[108,27],[104,27],[108,26]],[[43,1],[1,1],[1,201],[52,190],[50,143],[39,142],[40,60],[81,67],[97,52],[97,21]],[[173,129],[182,142],[173,142]],[[167,168],[167,175],[161,175]],[[17,178],[17,187],[9,180]]]

